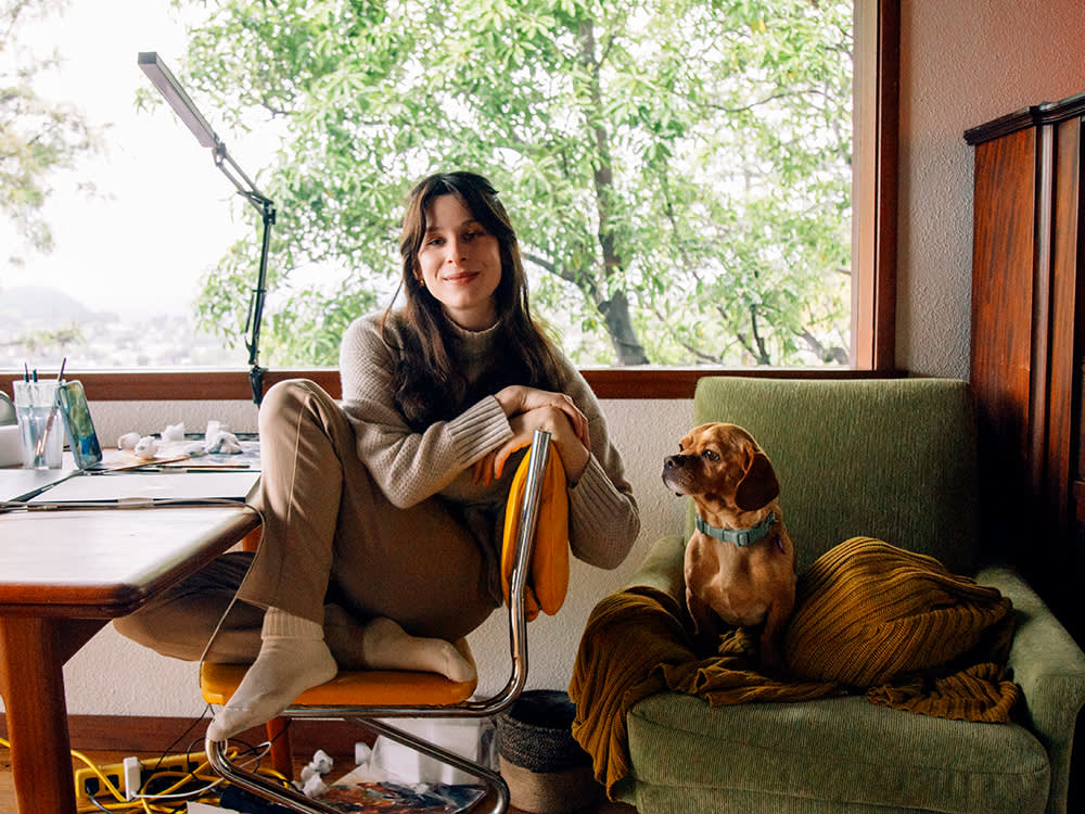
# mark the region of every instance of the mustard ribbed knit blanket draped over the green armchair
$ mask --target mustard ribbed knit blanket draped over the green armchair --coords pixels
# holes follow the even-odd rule
[[[741,629],[720,637],[718,656],[698,659],[687,625],[684,599],[647,586],[611,595],[588,620],[569,688],[573,735],[608,793],[630,772],[626,713],[664,690],[712,705],[865,692],[894,709],[987,723],[1008,721],[1020,696],[1006,675],[1009,599],[869,537],[800,576],[783,675],[756,671],[755,639]]]

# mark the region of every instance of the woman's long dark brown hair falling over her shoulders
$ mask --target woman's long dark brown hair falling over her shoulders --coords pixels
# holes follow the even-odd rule
[[[471,216],[497,238],[501,257],[501,280],[494,293],[501,354],[487,374],[469,385],[449,353],[452,334],[441,303],[422,285],[418,275],[418,253],[425,237],[426,215],[435,198],[456,195]],[[532,319],[527,303],[527,276],[520,257],[520,244],[497,190],[474,173],[439,173],[419,181],[411,190],[399,238],[403,258],[400,288],[406,297],[407,322],[399,367],[395,372],[396,403],[416,431],[434,421],[459,415],[474,400],[496,393],[508,384],[525,384],[546,390],[561,386],[553,345]],[[385,341],[391,341],[384,314]]]

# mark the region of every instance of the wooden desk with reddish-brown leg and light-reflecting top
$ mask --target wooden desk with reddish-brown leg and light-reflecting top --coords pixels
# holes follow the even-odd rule
[[[0,514],[0,697],[21,814],[76,811],[64,663],[259,522],[240,504]]]

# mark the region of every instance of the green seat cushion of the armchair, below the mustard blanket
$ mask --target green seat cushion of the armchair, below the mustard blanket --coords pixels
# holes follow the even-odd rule
[[[1017,724],[978,724],[863,698],[710,707],[663,692],[628,715],[635,784],[652,812],[1043,812],[1047,754]],[[817,771],[812,767],[818,766]]]

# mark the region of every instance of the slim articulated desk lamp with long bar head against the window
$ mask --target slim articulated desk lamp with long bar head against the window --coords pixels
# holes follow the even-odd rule
[[[260,213],[264,221],[264,234],[260,245],[260,265],[256,278],[256,288],[253,289],[253,296],[248,301],[248,317],[245,320],[245,332],[250,333],[245,340],[245,347],[248,349],[248,382],[253,387],[253,402],[259,404],[264,397],[264,372],[266,368],[259,366],[259,343],[260,343],[260,320],[264,316],[264,296],[267,294],[267,271],[268,271],[268,246],[271,242],[271,225],[275,222],[275,203],[265,195],[253,183],[252,179],[245,175],[244,170],[238,166],[226,144],[219,139],[207,119],[201,115],[195,103],[184,92],[177,78],[158,56],[156,51],[144,51],[139,54],[139,66],[146,74],[148,78],[154,82],[154,87],[169,102],[181,122],[183,122],[201,147],[209,147],[215,160],[215,166],[222,170],[222,174],[230,179],[241,194],[256,211]]]

